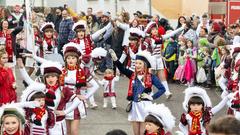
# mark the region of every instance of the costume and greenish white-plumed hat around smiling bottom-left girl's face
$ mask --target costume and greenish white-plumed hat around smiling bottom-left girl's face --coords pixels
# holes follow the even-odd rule
[[[25,117],[25,111],[22,108],[17,107],[14,104],[5,104],[0,108],[1,126],[3,126],[2,124],[4,122],[4,119],[8,116],[11,116],[11,117],[14,116],[19,121],[20,126],[18,127],[18,130],[16,131],[16,133],[14,133],[14,135],[24,135],[23,127],[24,127],[24,124],[25,124],[25,118],[24,118]],[[7,133],[7,131],[4,130],[3,127],[1,128],[0,132],[3,135],[10,135],[10,134]]]

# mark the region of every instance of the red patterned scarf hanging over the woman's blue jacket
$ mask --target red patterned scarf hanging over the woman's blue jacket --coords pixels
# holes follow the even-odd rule
[[[128,97],[133,96],[133,81],[136,79],[137,75],[144,75],[144,87],[145,88],[152,88],[152,77],[150,73],[146,73],[144,71],[139,72],[136,74],[135,72],[132,74],[131,78],[129,79],[129,86],[128,86]]]

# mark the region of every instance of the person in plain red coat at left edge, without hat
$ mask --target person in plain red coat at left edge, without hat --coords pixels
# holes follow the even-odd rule
[[[16,82],[12,69],[6,67],[8,54],[4,47],[0,48],[0,106],[6,103],[16,102]]]

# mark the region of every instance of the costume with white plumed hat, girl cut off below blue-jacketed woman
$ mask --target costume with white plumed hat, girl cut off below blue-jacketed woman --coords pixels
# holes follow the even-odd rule
[[[153,116],[157,119],[159,123],[163,125],[163,128],[160,127],[158,132],[156,133],[148,133],[148,131],[145,131],[144,135],[172,135],[171,131],[175,127],[175,117],[172,115],[169,108],[167,108],[164,104],[152,104],[150,106],[146,107],[146,112],[148,115]],[[157,123],[153,123],[157,124]]]

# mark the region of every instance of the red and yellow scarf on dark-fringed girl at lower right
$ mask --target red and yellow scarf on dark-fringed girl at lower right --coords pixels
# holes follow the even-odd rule
[[[189,135],[201,134],[200,119],[202,118],[202,112],[194,113],[190,112],[189,115],[192,117],[192,126],[190,127]]]

